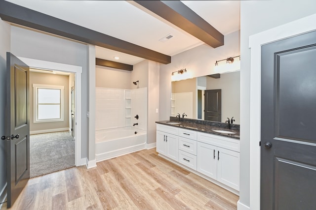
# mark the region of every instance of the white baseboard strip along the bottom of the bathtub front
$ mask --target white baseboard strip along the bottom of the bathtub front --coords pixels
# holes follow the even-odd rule
[[[156,143],[155,143],[155,146],[156,146]],[[140,144],[140,145],[131,146],[131,147],[128,147],[128,148],[119,149],[119,150],[104,152],[104,153],[101,153],[101,154],[96,154],[95,158],[96,158],[97,162],[100,162],[100,161],[103,161],[103,160],[111,159],[111,158],[114,158],[114,157],[118,157],[118,156],[121,156],[121,155],[124,155],[124,154],[129,154],[131,152],[144,150],[144,149],[146,149],[146,143]]]

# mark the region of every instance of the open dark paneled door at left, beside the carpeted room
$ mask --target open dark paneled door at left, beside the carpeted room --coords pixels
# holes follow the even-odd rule
[[[7,207],[30,178],[29,66],[6,54]]]

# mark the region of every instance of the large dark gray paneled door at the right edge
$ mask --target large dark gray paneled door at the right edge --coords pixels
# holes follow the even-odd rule
[[[261,210],[315,210],[316,31],[261,50]]]

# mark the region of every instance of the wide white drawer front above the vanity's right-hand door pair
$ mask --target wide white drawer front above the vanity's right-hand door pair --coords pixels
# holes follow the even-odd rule
[[[197,141],[239,152],[239,140],[237,139],[198,132]]]

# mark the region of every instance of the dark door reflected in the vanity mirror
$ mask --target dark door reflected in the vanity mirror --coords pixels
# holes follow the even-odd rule
[[[204,91],[204,120],[222,120],[222,90]]]

